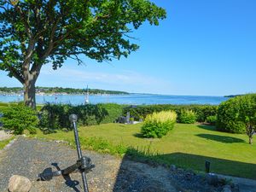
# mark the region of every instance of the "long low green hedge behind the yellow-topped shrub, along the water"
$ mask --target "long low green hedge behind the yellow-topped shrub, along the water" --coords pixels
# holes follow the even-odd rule
[[[179,119],[179,115],[182,110],[193,110],[196,115],[196,121],[205,122],[208,116],[216,115],[218,106],[215,105],[139,105],[137,108],[127,107],[124,108],[124,115],[127,112],[131,113],[131,116],[136,120],[140,118],[145,119],[148,114],[152,114],[154,112],[160,111],[168,111],[172,110],[177,113],[177,119]]]

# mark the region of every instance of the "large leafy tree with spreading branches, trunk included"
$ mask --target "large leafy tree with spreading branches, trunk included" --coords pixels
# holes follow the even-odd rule
[[[127,57],[138,49],[131,33],[147,21],[158,25],[165,9],[148,0],[0,0],[0,69],[24,86],[35,108],[41,67],[61,67],[80,55],[96,61]]]

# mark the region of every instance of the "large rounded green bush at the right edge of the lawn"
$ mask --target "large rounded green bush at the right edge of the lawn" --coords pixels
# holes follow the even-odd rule
[[[218,108],[217,128],[219,131],[243,133],[255,127],[256,95],[236,96],[222,102]]]

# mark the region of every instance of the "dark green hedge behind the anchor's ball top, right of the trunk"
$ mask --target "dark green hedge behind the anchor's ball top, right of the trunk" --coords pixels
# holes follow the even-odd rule
[[[70,127],[69,115],[75,113],[79,125],[97,125],[113,123],[122,114],[122,105],[87,104],[72,106],[66,104],[46,104],[40,112],[40,126],[55,129]]]

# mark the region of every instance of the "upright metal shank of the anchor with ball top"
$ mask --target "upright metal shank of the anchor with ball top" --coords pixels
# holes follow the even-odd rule
[[[80,160],[82,158],[82,151],[81,151],[81,148],[80,148],[79,132],[78,132],[78,129],[77,129],[78,117],[75,114],[71,114],[69,116],[69,119],[73,122],[73,132],[74,132],[75,142],[76,142],[77,151],[78,151],[79,160]],[[81,172],[81,174],[82,174],[84,192],[89,192],[88,184],[87,184],[87,180],[86,180],[86,176],[85,176],[85,172]]]

